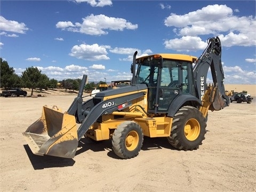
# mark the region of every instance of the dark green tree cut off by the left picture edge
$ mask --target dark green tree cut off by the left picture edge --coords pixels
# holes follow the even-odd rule
[[[8,89],[10,87],[21,87],[20,77],[14,73],[13,67],[9,67],[7,61],[0,58],[1,66],[1,87]]]

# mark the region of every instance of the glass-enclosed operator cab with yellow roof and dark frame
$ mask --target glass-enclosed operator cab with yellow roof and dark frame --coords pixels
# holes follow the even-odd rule
[[[179,95],[195,95],[194,60],[195,57],[180,54],[156,54],[136,60],[135,84],[148,86],[148,113],[166,113]]]

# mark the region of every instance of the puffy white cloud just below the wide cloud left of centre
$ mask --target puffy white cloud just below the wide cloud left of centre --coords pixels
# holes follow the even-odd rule
[[[73,46],[69,55],[78,59],[84,59],[89,61],[108,60],[109,57],[107,57],[107,49],[110,49],[110,46],[100,46],[98,44],[81,44]]]

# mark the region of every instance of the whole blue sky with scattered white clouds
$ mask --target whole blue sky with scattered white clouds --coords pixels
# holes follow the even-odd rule
[[[0,57],[58,81],[131,79],[137,57],[199,57],[218,36],[226,84],[256,84],[255,1],[0,1]],[[211,75],[207,81],[211,82]]]

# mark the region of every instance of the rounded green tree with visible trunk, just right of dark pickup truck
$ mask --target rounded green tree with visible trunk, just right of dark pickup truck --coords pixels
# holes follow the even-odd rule
[[[31,89],[31,95],[33,95],[34,89],[38,87],[41,76],[41,70],[33,66],[26,68],[26,70],[22,72],[21,81],[25,87]]]

